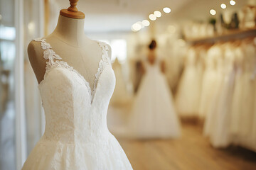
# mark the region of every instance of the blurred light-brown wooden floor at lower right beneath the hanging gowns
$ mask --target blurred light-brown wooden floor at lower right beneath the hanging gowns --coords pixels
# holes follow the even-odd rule
[[[254,170],[256,153],[214,149],[198,125],[183,125],[178,140],[118,139],[134,170]]]

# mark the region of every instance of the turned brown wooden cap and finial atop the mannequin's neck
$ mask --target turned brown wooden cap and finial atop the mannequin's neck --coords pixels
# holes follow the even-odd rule
[[[60,16],[65,16],[68,18],[75,18],[75,19],[85,18],[85,13],[78,11],[78,8],[76,7],[78,4],[78,0],[69,0],[69,1],[70,1],[70,7],[68,9],[60,10]]]

